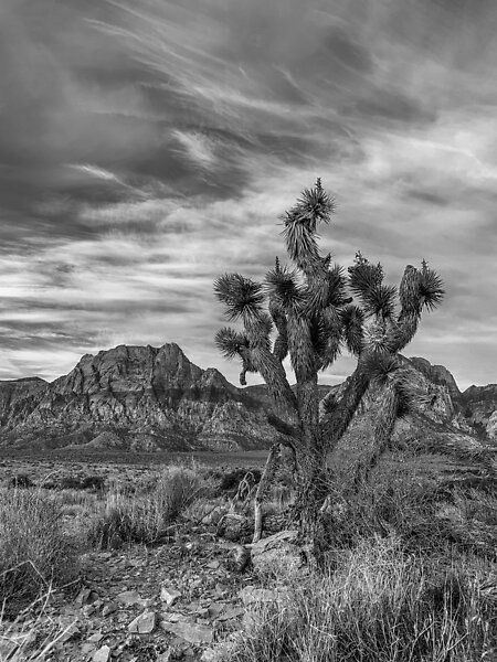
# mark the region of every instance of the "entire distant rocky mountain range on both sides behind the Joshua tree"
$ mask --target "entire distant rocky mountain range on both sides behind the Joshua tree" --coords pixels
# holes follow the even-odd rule
[[[472,386],[462,394],[444,366],[420,357],[404,361],[411,381],[429,395],[429,404],[399,421],[398,435],[430,438],[435,445],[442,437],[464,437],[465,444],[477,442],[476,437],[488,442],[496,438],[497,385]],[[319,385],[319,395],[334,397],[342,388],[343,384]],[[355,435],[370,435],[370,424],[364,421],[376,397],[371,387],[343,444],[353,447]],[[0,382],[0,447],[268,448],[276,438],[266,417],[271,406],[265,385],[237,388],[218,370],[191,363],[175,343],[119,345],[86,354],[52,383],[39,377]]]

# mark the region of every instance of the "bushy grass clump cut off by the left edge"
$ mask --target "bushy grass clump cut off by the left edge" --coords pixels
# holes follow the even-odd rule
[[[0,602],[35,599],[77,570],[62,530],[62,512],[39,490],[7,490],[0,501]]]

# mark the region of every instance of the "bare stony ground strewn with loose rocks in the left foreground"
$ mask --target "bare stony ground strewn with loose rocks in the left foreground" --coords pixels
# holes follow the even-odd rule
[[[23,633],[36,631],[39,642],[59,637],[47,661],[219,660],[250,606],[272,597],[253,572],[236,570],[239,549],[193,526],[156,548],[88,552],[81,579],[54,591],[41,616],[3,623],[0,659],[11,659]]]

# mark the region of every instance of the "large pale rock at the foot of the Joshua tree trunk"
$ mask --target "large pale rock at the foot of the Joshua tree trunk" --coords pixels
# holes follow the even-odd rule
[[[262,574],[288,574],[303,566],[297,531],[281,531],[252,545],[252,565]]]

